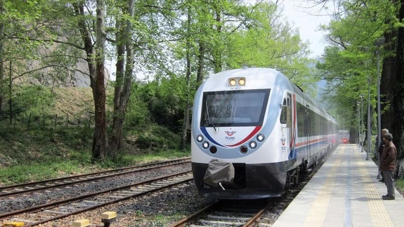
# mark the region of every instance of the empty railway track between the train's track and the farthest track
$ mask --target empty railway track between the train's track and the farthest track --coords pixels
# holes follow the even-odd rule
[[[191,171],[185,171],[158,177],[140,183],[122,186],[115,189],[99,191],[75,198],[42,204],[30,208],[0,214],[2,222],[24,222],[24,227],[33,226],[47,221],[60,219],[87,210],[106,206],[147,193],[170,188],[193,179]]]

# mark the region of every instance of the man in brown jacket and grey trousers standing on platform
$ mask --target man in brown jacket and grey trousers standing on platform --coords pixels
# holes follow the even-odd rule
[[[380,156],[380,170],[384,177],[384,184],[387,186],[387,195],[382,196],[382,199],[394,200],[394,169],[397,151],[392,142],[393,135],[391,133],[385,133],[382,140],[384,148]]]

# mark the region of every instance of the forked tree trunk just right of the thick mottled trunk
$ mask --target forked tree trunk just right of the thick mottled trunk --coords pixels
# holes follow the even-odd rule
[[[129,17],[134,14],[134,0],[128,0],[127,13]],[[129,38],[132,33],[132,24],[126,20],[126,28],[121,28],[121,22],[117,20],[117,78],[114,94],[114,117],[112,123],[112,132],[108,140],[108,149],[113,157],[116,157],[119,150],[122,149],[122,129],[126,116],[126,107],[129,101],[131,87],[132,87],[132,73],[133,73],[133,45]],[[124,45],[125,43],[125,45]],[[124,73],[124,53],[126,49],[126,68]]]

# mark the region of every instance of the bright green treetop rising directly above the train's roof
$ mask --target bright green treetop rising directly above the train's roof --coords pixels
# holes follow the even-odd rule
[[[246,29],[229,34],[225,65],[274,68],[305,90],[316,81],[309,59],[308,43],[300,39],[297,30],[282,22],[280,9],[271,3],[261,3],[250,12]]]

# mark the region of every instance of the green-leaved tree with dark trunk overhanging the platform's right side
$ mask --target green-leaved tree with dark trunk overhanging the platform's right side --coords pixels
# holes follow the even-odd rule
[[[327,2],[319,1],[319,2]],[[404,176],[404,30],[402,19],[404,17],[403,1],[367,1],[350,2],[342,1],[341,12],[329,25],[329,40],[333,47],[339,50],[332,55],[327,55],[324,63],[319,64],[320,69],[327,75],[329,80],[340,79],[343,84],[335,93],[329,93],[330,97],[342,104],[341,100],[346,98],[351,105],[358,100],[359,94],[364,94],[363,85],[367,78],[372,81],[372,97],[376,96],[375,77],[376,72],[369,70],[369,66],[375,66],[375,56],[368,54],[364,58],[359,57],[359,50],[367,47],[369,52],[375,50],[374,41],[384,37],[385,44],[381,47],[382,73],[381,73],[381,128],[388,128],[393,133],[393,143],[397,148],[397,172],[399,177]],[[330,59],[327,63],[327,59]],[[344,59],[344,65],[331,59]],[[341,61],[342,62],[342,61]],[[331,65],[331,63],[333,65]],[[334,72],[334,73],[333,73]],[[335,73],[339,72],[339,75]],[[361,76],[365,74],[366,76]],[[359,76],[358,76],[359,75]],[[360,77],[360,78],[358,78]],[[347,85],[354,85],[356,89],[346,92]],[[361,86],[362,84],[362,86]],[[353,86],[351,86],[352,88]],[[343,92],[346,93],[343,93]],[[338,101],[339,100],[339,101]],[[374,106],[375,100],[372,99]],[[342,105],[341,105],[342,106]],[[376,111],[376,108],[375,108]],[[341,110],[342,112],[342,110]],[[351,112],[352,113],[352,112]],[[370,129],[368,129],[370,130]]]

